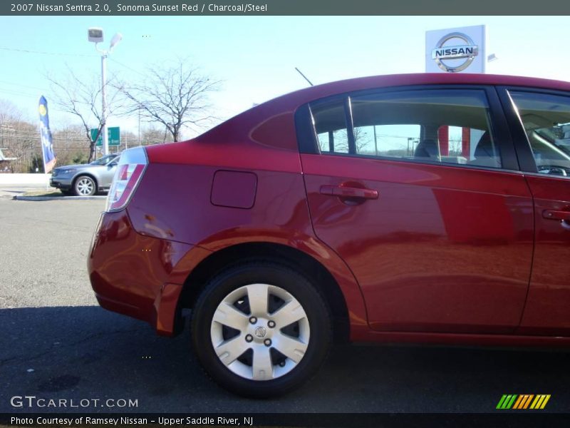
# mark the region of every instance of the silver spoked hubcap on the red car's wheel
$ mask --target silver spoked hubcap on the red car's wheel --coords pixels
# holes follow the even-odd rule
[[[294,369],[309,345],[305,310],[291,293],[244,285],[218,305],[210,329],[219,360],[246,379],[270,380]]]

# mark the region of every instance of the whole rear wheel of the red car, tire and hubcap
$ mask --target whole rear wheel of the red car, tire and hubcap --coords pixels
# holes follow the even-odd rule
[[[331,317],[311,282],[269,262],[214,277],[192,311],[192,343],[207,373],[246,397],[299,387],[331,345]]]

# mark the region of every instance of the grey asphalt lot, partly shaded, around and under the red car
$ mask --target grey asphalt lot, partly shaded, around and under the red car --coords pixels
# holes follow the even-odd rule
[[[502,394],[570,409],[568,352],[465,347],[334,347],[298,391],[235,397],[202,373],[188,331],[157,337],[98,307],[86,257],[104,203],[0,198],[0,412],[62,410],[11,405],[25,395],[138,403],[68,409],[89,412],[492,412]]]

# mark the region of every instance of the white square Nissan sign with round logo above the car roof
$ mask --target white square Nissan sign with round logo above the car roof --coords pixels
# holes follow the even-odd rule
[[[427,31],[427,73],[484,73],[485,28],[483,25]]]

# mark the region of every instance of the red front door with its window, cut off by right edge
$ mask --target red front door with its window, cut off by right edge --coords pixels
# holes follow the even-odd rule
[[[535,248],[519,333],[570,335],[570,93],[501,88],[534,197]]]

